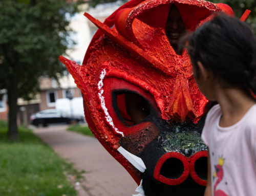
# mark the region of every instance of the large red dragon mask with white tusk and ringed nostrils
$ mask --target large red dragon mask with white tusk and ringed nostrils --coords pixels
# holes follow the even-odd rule
[[[187,50],[177,55],[165,34],[173,4],[188,32],[216,12],[233,15],[227,5],[203,0],[132,0],[104,24],[84,14],[99,30],[82,66],[59,57],[82,92],[92,133],[141,184],[140,195],[203,195],[206,186],[200,135],[211,103],[197,87]],[[147,105],[137,124],[127,114],[127,95]]]

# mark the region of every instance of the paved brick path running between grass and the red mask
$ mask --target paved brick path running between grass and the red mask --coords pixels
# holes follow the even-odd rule
[[[62,158],[85,170],[86,187],[79,196],[132,196],[137,184],[129,173],[93,137],[66,131],[67,126],[37,128],[34,133]]]

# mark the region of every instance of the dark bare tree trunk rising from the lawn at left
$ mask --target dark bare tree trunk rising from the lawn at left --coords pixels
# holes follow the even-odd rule
[[[13,78],[8,89],[8,105],[9,105],[9,123],[8,123],[8,137],[11,141],[16,141],[18,139],[17,130],[17,99],[18,99],[18,89],[17,89],[17,78]]]

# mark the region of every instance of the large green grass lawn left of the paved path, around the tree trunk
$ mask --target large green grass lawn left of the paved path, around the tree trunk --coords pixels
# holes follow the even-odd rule
[[[80,175],[60,159],[30,129],[19,127],[19,140],[7,139],[7,123],[0,121],[0,195],[75,196],[68,180]]]

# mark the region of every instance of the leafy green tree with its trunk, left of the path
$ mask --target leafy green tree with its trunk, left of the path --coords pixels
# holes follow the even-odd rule
[[[58,61],[71,44],[67,14],[78,3],[64,0],[0,1],[0,89],[7,89],[8,135],[17,139],[17,98],[38,92],[38,78],[56,78],[65,68]]]

